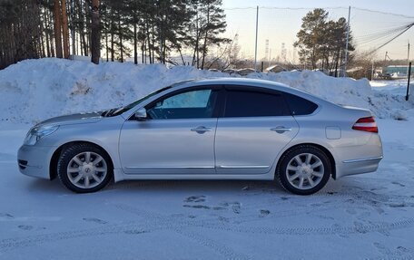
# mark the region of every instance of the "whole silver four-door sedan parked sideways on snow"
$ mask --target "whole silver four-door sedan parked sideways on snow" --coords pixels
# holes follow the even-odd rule
[[[380,159],[370,111],[236,78],[180,82],[123,108],[44,120],[18,151],[23,174],[58,177],[79,193],[112,179],[277,179],[309,195],[330,177],[375,171]]]

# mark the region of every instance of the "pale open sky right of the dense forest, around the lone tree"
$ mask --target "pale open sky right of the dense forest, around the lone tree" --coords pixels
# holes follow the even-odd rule
[[[338,20],[340,17],[348,19],[348,7],[351,6],[350,29],[359,52],[367,52],[378,48],[391,38],[391,34],[397,34],[399,28],[414,23],[413,0],[222,0],[222,4],[227,21],[225,35],[233,38],[235,34],[238,34],[241,53],[245,58],[254,58],[255,7],[259,5],[258,60],[264,59],[265,61],[269,58],[282,57],[282,43],[285,46],[287,61],[295,62],[299,59],[292,44],[297,40],[296,34],[301,28],[301,18],[313,8],[324,8],[329,12],[330,19]],[[409,17],[380,14],[361,9],[401,14]],[[269,40],[267,54],[266,40]],[[386,52],[388,53],[388,59],[407,59],[408,43],[414,46],[414,27],[380,48],[376,52],[375,59],[383,60]],[[410,59],[414,57],[414,51],[412,50],[414,48],[411,48]]]

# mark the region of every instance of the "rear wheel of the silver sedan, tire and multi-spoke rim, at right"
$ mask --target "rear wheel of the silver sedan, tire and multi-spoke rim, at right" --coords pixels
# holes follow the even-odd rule
[[[297,146],[281,157],[276,173],[286,190],[297,195],[311,195],[330,179],[330,159],[314,146]]]

